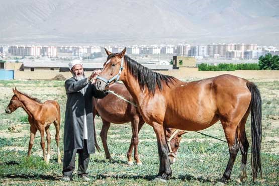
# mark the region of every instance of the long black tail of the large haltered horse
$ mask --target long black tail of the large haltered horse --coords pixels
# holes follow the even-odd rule
[[[253,82],[247,82],[247,87],[251,92],[251,136],[252,136],[252,149],[251,149],[251,168],[253,172],[253,180],[256,179],[258,170],[261,173],[260,151],[261,151],[261,98],[257,86]]]

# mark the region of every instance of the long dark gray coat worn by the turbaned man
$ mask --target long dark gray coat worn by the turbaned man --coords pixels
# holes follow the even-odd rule
[[[84,96],[80,91],[86,91]],[[94,121],[92,114],[92,97],[104,98],[104,92],[96,89],[94,84],[87,82],[87,78],[76,80],[71,77],[65,81],[67,103],[64,122],[64,151],[83,148],[84,108],[87,122],[88,153],[95,153]]]

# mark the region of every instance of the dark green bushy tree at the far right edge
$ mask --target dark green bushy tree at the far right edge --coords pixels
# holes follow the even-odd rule
[[[270,53],[259,57],[259,68],[261,70],[279,70],[279,56]]]

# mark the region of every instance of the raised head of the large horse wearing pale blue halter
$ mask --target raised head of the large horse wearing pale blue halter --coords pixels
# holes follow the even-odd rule
[[[104,63],[104,68],[101,74],[97,77],[97,89],[106,91],[109,87],[109,84],[114,83],[118,80],[121,80],[123,73],[124,65],[124,55],[126,48],[120,53],[112,53],[105,49],[108,54],[107,61]]]

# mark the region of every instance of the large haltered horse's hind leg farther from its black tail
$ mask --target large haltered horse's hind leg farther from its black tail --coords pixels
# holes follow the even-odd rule
[[[233,164],[239,150],[239,143],[236,134],[236,128],[239,124],[239,121],[230,122],[221,119],[221,123],[225,132],[225,136],[228,142],[229,152],[230,152],[229,162],[227,164],[226,170],[222,178],[220,179],[221,182],[225,182],[226,180],[230,179]]]

